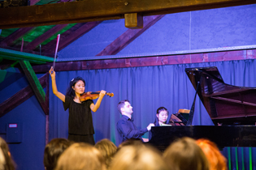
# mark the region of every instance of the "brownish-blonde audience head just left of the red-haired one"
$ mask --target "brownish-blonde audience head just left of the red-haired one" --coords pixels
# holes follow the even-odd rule
[[[170,170],[209,170],[209,163],[202,149],[193,138],[180,138],[163,153]]]

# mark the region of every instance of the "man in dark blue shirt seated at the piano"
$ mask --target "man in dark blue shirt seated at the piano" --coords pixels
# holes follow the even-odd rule
[[[116,124],[117,131],[119,133],[119,142],[124,142],[129,138],[139,138],[142,142],[148,142],[148,138],[141,138],[143,134],[151,130],[151,127],[154,126],[153,123],[150,123],[146,128],[138,130],[136,125],[133,123],[132,118],[132,105],[129,100],[122,100],[117,105],[119,113],[122,114],[122,118]]]

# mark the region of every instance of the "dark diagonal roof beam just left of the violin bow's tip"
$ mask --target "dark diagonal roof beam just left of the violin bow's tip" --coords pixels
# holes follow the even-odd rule
[[[50,28],[47,32],[43,33],[41,36],[38,36],[35,40],[30,42],[28,45],[24,46],[24,49],[33,50],[36,49],[38,45],[42,42],[53,36],[55,33],[59,32],[65,28],[68,24],[55,25],[53,28]]]

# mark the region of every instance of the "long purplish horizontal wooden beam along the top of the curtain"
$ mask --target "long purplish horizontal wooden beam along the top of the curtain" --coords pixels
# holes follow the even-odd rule
[[[256,49],[244,49],[226,52],[192,53],[170,56],[113,58],[80,62],[56,62],[55,71],[115,69],[137,66],[163,66],[199,62],[223,62],[233,60],[256,59]],[[33,66],[36,73],[46,73],[52,63]]]

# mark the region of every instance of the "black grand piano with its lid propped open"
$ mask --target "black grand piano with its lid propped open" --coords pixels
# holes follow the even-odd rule
[[[189,117],[171,126],[152,127],[150,144],[165,150],[177,138],[208,138],[219,148],[256,147],[256,88],[236,87],[223,82],[217,67],[187,68],[196,95]],[[196,96],[199,96],[215,125],[192,125]]]

